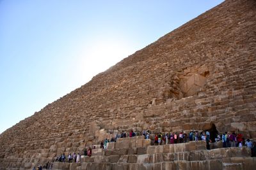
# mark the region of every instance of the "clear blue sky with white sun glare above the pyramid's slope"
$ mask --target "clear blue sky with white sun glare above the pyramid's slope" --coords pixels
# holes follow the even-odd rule
[[[0,0],[0,133],[221,2]]]

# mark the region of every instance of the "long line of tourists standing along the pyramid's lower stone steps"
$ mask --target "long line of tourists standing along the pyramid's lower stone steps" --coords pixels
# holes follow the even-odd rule
[[[154,136],[154,145],[168,145],[168,144],[176,144],[176,143],[188,143],[189,141],[206,141],[206,148],[207,150],[210,150],[210,144],[214,142],[220,142],[222,141],[223,148],[227,147],[242,147],[247,146],[252,150],[252,157],[256,157],[256,142],[250,141],[250,139],[244,139],[243,134],[240,132],[224,132],[223,134],[214,134],[213,138],[211,137],[211,134],[209,131],[193,131],[191,130],[188,134],[184,131],[181,132],[160,132],[158,134],[151,134],[148,130],[143,130],[142,132],[118,132],[115,136],[113,136],[111,139],[104,139],[100,143],[100,148],[106,149],[109,142],[116,142],[118,138],[132,138],[134,136],[144,136],[145,139],[150,139],[150,136]],[[152,137],[151,137],[152,139]],[[212,141],[211,139],[214,139]],[[95,146],[88,147],[88,149],[85,147],[84,149],[84,156],[91,157],[92,156],[92,149],[95,149]],[[81,155],[80,153],[69,153],[69,155],[65,155],[63,153],[59,157],[56,157],[56,162],[76,162],[79,163],[81,161]],[[33,170],[40,170],[42,168],[45,169],[51,169],[53,162],[51,164],[47,162],[47,164],[42,167],[34,167]]]

